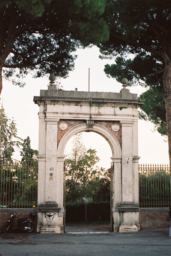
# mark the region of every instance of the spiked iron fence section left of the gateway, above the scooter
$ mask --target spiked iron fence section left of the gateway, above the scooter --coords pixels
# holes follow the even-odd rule
[[[13,161],[0,168],[0,208],[37,204],[38,165]]]

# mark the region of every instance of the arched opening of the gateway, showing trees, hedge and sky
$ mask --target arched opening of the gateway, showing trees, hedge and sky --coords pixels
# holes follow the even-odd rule
[[[65,232],[112,231],[112,150],[109,143],[98,133],[77,133],[69,139],[65,155]],[[83,204],[83,198],[88,199],[88,205]]]

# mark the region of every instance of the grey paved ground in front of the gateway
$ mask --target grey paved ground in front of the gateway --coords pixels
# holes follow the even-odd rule
[[[0,235],[4,256],[132,256],[171,255],[168,229],[132,233]]]

